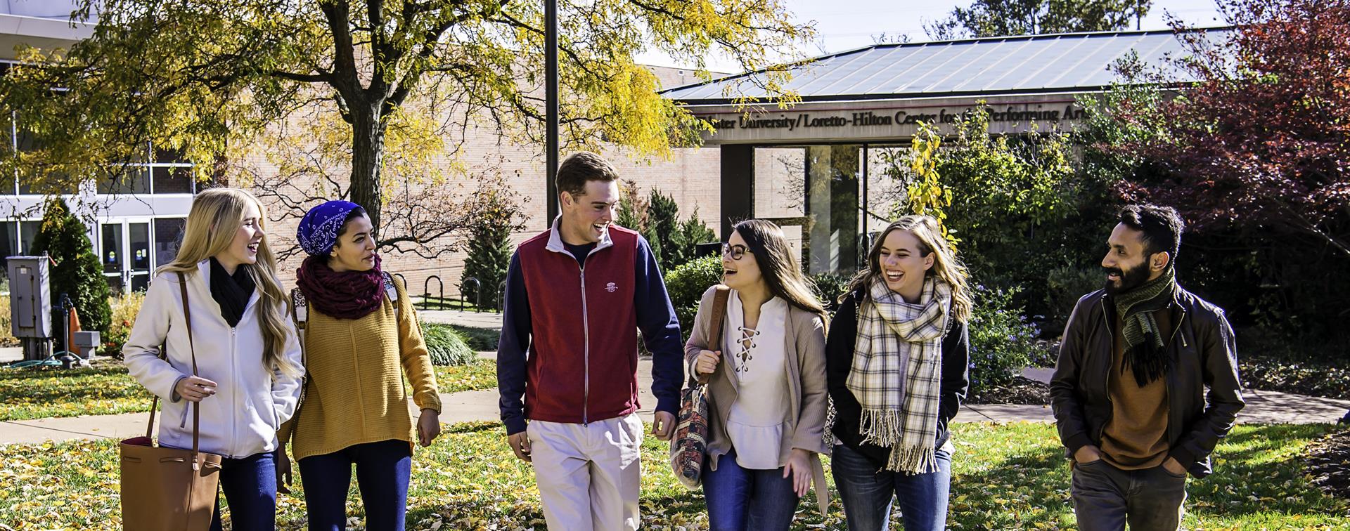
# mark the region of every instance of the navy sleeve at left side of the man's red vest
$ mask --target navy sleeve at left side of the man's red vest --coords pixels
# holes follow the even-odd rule
[[[502,337],[497,342],[497,404],[502,410],[506,434],[525,431],[525,354],[529,352],[529,298],[520,271],[520,251],[506,270],[506,305],[502,309]],[[676,337],[679,332],[675,332]]]

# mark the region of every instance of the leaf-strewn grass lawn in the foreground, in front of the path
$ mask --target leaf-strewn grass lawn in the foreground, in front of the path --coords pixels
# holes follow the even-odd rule
[[[1299,470],[1300,453],[1334,426],[1239,426],[1219,446],[1218,472],[1192,480],[1185,527],[1332,530],[1350,527],[1350,504],[1323,496]],[[1073,528],[1069,472],[1049,425],[957,425],[949,524],[954,530]],[[109,441],[0,447],[0,523],[23,528],[120,528],[116,445]],[[701,493],[670,473],[666,443],[644,445],[645,528],[707,527]],[[282,495],[279,528],[302,528],[302,493]],[[360,516],[355,485],[348,515]],[[832,496],[821,518],[814,496],[795,528],[844,528]],[[895,528],[899,528],[896,519]],[[413,457],[409,530],[543,530],[531,469],[506,449],[497,423],[448,426]]]

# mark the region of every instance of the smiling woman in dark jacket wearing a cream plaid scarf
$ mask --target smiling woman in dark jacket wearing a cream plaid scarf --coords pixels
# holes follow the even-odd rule
[[[969,384],[971,294],[937,220],[882,232],[830,323],[832,468],[853,531],[887,530],[898,497],[906,531],[946,528],[948,422]]]

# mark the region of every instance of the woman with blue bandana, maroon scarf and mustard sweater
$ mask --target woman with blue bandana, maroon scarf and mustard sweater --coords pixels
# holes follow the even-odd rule
[[[309,530],[346,528],[352,465],[366,528],[402,530],[413,443],[428,446],[440,434],[440,395],[417,314],[404,284],[381,271],[370,217],[356,204],[310,209],[297,237],[309,255],[292,291],[306,380],[300,411],[278,438],[300,464]],[[277,466],[286,492],[285,446]]]

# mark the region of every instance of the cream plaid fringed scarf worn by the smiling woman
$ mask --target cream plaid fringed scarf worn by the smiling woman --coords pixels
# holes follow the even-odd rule
[[[876,279],[859,309],[846,384],[863,406],[863,442],[891,449],[890,470],[937,470],[942,336],[950,307],[952,287],[929,278],[917,305]]]

